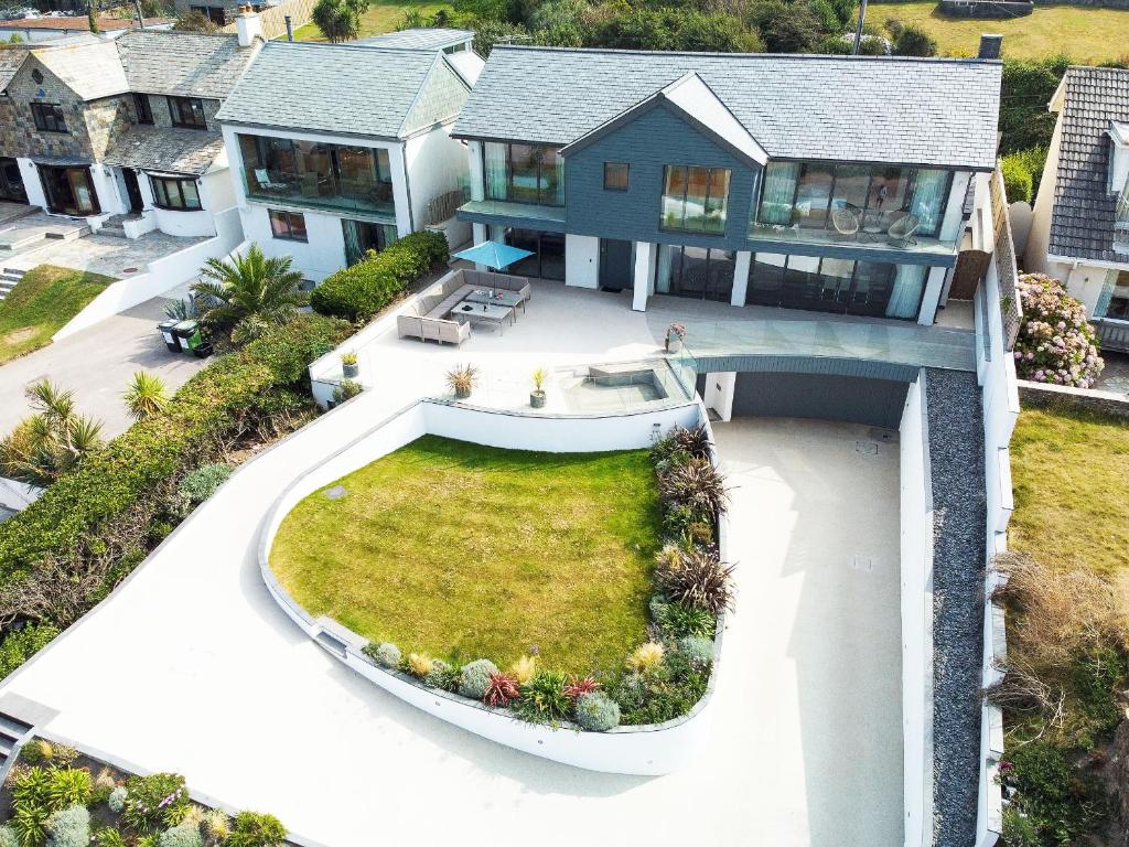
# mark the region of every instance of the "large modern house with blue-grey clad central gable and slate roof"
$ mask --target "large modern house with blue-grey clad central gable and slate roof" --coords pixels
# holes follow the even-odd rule
[[[981,60],[499,46],[455,126],[474,241],[584,288],[931,324],[996,161]],[[973,286],[974,288],[974,286]]]

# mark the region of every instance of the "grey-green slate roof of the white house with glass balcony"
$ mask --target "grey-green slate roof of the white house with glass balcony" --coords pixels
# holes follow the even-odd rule
[[[443,53],[270,42],[219,111],[225,123],[405,138],[458,114],[470,87]]]

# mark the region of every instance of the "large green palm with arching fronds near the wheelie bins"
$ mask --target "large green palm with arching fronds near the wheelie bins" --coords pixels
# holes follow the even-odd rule
[[[209,259],[192,285],[204,323],[233,328],[238,343],[257,338],[271,323],[289,321],[306,303],[298,289],[301,273],[290,270],[291,261],[268,259],[257,244],[231,260]]]

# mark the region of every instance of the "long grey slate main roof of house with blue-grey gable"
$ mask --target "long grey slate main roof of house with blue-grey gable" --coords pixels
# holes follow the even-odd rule
[[[455,134],[567,145],[697,71],[773,157],[991,169],[999,62],[498,46]]]

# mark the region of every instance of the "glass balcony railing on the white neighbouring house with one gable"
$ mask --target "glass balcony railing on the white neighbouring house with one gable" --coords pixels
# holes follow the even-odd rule
[[[248,200],[280,206],[344,211],[395,220],[392,183],[325,174],[294,174],[253,168],[243,174]]]

